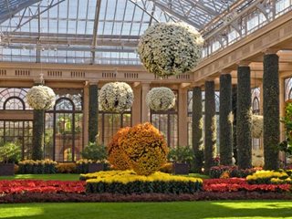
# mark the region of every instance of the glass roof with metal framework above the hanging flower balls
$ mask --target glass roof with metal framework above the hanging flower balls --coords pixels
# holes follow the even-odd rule
[[[182,21],[204,34],[224,26],[224,13],[255,2],[0,0],[0,61],[139,65],[136,47],[148,26]]]

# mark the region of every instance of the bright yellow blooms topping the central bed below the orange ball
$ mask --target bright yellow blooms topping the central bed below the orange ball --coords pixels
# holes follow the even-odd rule
[[[109,172],[95,172],[88,174],[81,174],[85,178],[90,178],[87,180],[87,183],[131,183],[135,181],[141,182],[193,182],[193,183],[203,183],[203,180],[200,178],[186,177],[186,176],[177,176],[171,175],[164,172],[154,172],[149,176],[137,175],[133,171],[109,171]],[[95,179],[94,179],[95,178]]]

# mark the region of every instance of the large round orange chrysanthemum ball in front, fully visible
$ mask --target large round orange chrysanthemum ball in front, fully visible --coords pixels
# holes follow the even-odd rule
[[[127,135],[121,136],[119,143],[129,156],[130,167],[139,175],[150,175],[166,162],[166,141],[149,122],[132,127]]]

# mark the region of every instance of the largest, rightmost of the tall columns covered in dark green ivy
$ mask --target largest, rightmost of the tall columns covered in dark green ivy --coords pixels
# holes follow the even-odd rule
[[[279,143],[279,57],[264,56],[263,110],[264,110],[264,156],[265,169],[278,168]]]

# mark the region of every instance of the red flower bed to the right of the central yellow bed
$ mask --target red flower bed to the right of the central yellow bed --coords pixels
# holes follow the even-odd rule
[[[289,184],[248,184],[245,179],[210,179],[203,181],[203,191],[206,192],[289,192]]]

